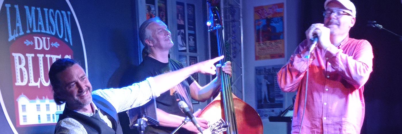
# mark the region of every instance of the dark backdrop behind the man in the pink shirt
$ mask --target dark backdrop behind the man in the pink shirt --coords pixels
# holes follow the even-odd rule
[[[351,0],[357,10],[356,24],[350,37],[365,39],[373,46],[373,72],[363,92],[366,114],[361,134],[402,133],[402,41],[387,32],[367,26],[367,21],[377,21],[384,28],[402,35],[402,4],[400,0]],[[304,31],[311,24],[322,23],[324,0],[303,0],[300,42],[306,39]],[[320,8],[317,8],[320,7]]]

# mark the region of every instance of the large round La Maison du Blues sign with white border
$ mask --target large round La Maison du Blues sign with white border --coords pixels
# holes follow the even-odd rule
[[[0,102],[11,131],[54,133],[59,106],[49,68],[60,58],[85,61],[76,14],[68,0],[0,0]]]

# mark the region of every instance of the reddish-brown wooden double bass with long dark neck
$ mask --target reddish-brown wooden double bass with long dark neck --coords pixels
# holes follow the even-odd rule
[[[228,61],[226,47],[223,39],[223,26],[219,16],[220,0],[207,0],[209,4],[209,32],[216,31],[219,56],[225,58],[219,61],[224,65]],[[205,107],[199,118],[204,118],[210,123],[212,134],[263,134],[263,122],[258,113],[246,102],[242,101],[232,93],[230,76],[221,70],[221,92],[213,101]]]

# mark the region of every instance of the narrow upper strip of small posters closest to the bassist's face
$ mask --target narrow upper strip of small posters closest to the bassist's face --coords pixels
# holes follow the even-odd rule
[[[185,16],[184,16],[184,3],[176,2],[176,11],[177,11],[177,46],[179,52],[186,52],[186,27],[184,24]]]

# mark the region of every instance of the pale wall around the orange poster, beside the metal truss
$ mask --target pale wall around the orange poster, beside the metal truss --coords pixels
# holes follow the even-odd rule
[[[285,4],[284,16],[284,32],[285,32],[285,58],[281,59],[268,59],[268,60],[255,60],[255,38],[254,38],[254,7],[265,6],[277,3]],[[245,77],[245,101],[254,108],[256,108],[254,75],[255,67],[268,66],[268,65],[284,65],[287,63],[291,53],[299,44],[298,34],[304,33],[299,30],[299,0],[243,0],[243,29],[244,29],[244,77]],[[284,108],[292,104],[292,97],[295,93],[286,93],[287,98],[284,102]],[[289,123],[290,124],[290,123]],[[287,134],[287,123],[285,122],[269,122],[263,120],[264,134]]]

